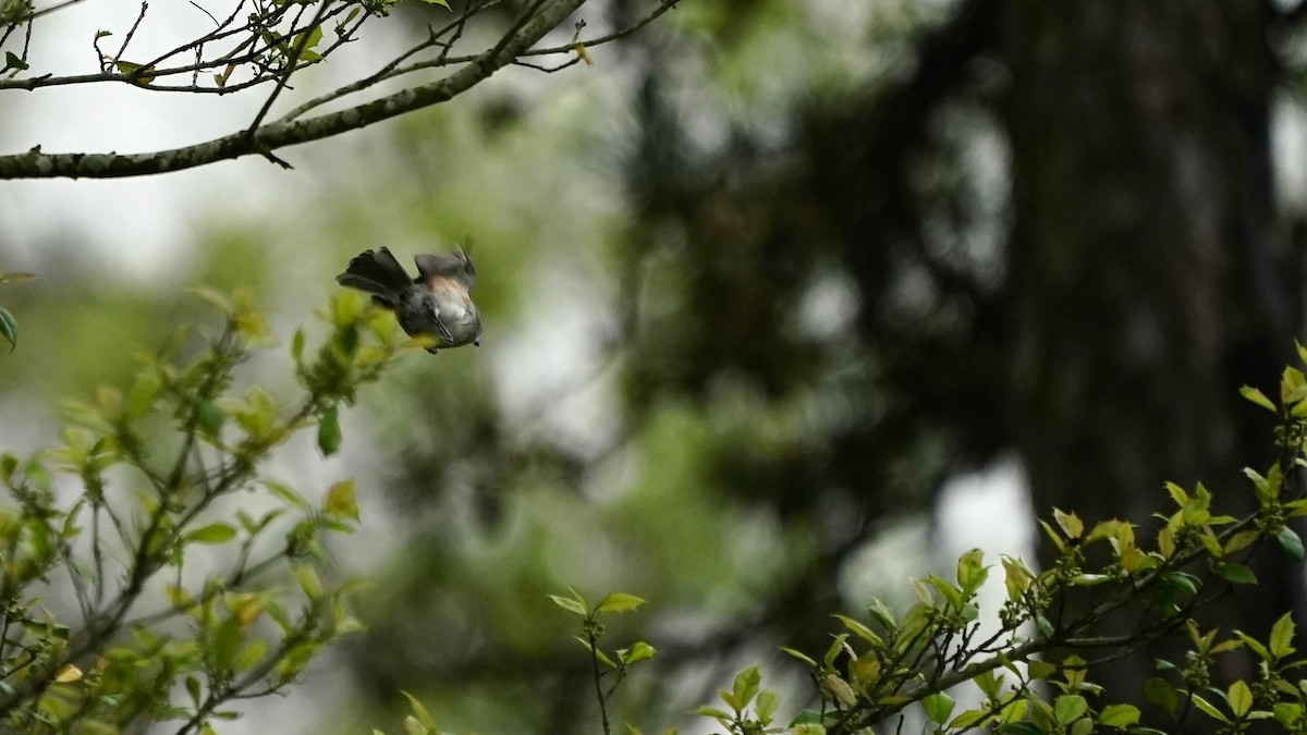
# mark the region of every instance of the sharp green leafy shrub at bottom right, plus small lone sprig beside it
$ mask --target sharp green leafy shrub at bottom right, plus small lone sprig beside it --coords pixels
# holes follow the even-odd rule
[[[1307,364],[1307,349],[1298,349]],[[1196,721],[1221,732],[1243,732],[1253,723],[1307,732],[1307,680],[1299,674],[1307,657],[1295,655],[1290,616],[1265,640],[1242,630],[1221,638],[1201,623],[1213,599],[1257,583],[1248,557],[1260,547],[1303,560],[1303,543],[1289,522],[1307,515],[1307,498],[1295,489],[1295,475],[1307,467],[1307,377],[1286,369],[1278,403],[1255,388],[1243,395],[1276,415],[1282,450],[1268,471],[1246,470],[1257,501],[1252,514],[1221,514],[1202,484],[1187,490],[1172,483],[1165,487],[1172,510],[1157,514],[1151,538],[1129,522],[1086,526],[1074,513],[1055,510],[1051,522],[1040,522],[1056,552],[1048,569],[1000,557],[1006,599],[991,613],[997,630],[982,625],[978,602],[992,565],[972,549],[958,558],[951,579],[931,574],[912,581],[916,604],[902,615],[872,599],[863,616],[834,616],[839,629],[823,651],[783,649],[805,664],[812,681],[806,709],[788,726],[778,723],[780,698],[762,688],[757,666],[719,693],[725,708],[695,713],[731,735],[852,735],[895,721],[894,731],[902,731],[910,706],[920,708],[924,732],[932,735],[1161,735]],[[595,645],[603,630],[596,613],[605,603],[591,608],[575,591],[553,599],[584,619],[582,642],[595,654],[596,671],[600,664],[620,668],[621,657],[601,658]],[[1104,688],[1090,679],[1095,664],[1176,636],[1187,643],[1183,659],[1159,660],[1142,692],[1154,708],[1149,717],[1170,723],[1165,730],[1145,725],[1145,711],[1133,704],[1107,701]],[[1235,654],[1249,657],[1256,674],[1216,680],[1216,671],[1230,668],[1217,666],[1218,657]],[[978,704],[959,706],[959,692]],[[599,696],[603,705],[603,691]]]

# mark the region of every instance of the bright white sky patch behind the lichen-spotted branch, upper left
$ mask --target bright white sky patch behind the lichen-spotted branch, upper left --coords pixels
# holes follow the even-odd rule
[[[201,3],[214,16],[230,14],[230,1]],[[112,56],[140,3],[82,3],[41,18],[35,24],[27,73],[84,75],[97,71],[91,41],[98,30]],[[152,3],[124,59],[149,60],[213,27],[190,3]],[[405,24],[374,18],[363,27],[366,42],[350,43],[331,63],[302,69],[295,89],[278,97],[267,120],[327,89],[370,73],[384,54],[403,47]],[[331,33],[328,33],[328,39]],[[8,44],[7,44],[8,47]],[[186,59],[175,59],[176,63]],[[233,77],[235,81],[242,72]],[[162,82],[163,80],[161,80]],[[190,77],[167,84],[190,84]],[[201,75],[200,86],[209,85]],[[119,82],[8,90],[5,124],[0,127],[0,154],[16,154],[41,145],[44,153],[141,153],[180,148],[230,135],[248,126],[272,93],[265,85],[230,95],[150,92]],[[354,102],[362,101],[354,99]],[[331,145],[358,145],[362,131],[339,136]],[[339,141],[349,141],[341,144]],[[273,218],[286,212],[307,212],[308,157],[314,145],[278,152],[299,170],[286,171],[260,158],[244,157],[187,171],[125,179],[42,179],[0,183],[0,268],[37,269],[43,251],[71,251],[111,276],[137,281],[183,275],[195,246],[195,233],[223,218]],[[356,152],[357,153],[357,152]],[[362,156],[359,154],[361,160]]]

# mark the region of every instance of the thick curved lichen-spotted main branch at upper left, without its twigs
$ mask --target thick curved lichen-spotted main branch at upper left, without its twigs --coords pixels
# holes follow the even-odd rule
[[[207,143],[152,153],[27,153],[0,156],[0,179],[30,178],[122,178],[193,169],[243,156],[268,156],[273,150],[367,127],[405,112],[439,105],[472,89],[512,64],[546,33],[576,12],[586,0],[553,0],[505,42],[477,56],[471,64],[439,81],[414,86],[346,110],[305,120],[274,122],[256,131],[240,131]]]

